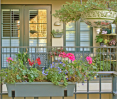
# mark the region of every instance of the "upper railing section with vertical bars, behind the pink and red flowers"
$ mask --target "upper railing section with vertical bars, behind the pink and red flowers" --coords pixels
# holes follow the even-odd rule
[[[73,53],[76,60],[86,60],[87,56],[93,58],[93,62],[100,71],[115,71],[117,64],[116,47],[2,47],[2,68],[7,67],[6,58],[16,58],[18,52],[27,52],[31,60],[37,57],[41,59],[41,67],[48,68],[52,62],[62,62],[59,57],[61,52]]]

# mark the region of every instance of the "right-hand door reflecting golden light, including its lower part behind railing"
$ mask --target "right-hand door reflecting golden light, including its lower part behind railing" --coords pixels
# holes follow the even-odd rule
[[[25,6],[24,46],[30,46],[31,60],[41,59],[39,67],[48,67],[47,46],[51,36],[50,6]]]

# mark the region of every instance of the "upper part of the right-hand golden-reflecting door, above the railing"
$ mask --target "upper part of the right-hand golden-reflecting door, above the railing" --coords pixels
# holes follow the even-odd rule
[[[24,45],[50,46],[50,6],[25,6],[25,8]]]

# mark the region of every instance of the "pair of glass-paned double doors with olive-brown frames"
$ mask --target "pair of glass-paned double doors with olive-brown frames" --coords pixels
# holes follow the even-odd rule
[[[19,46],[33,46],[29,49],[31,58],[47,60],[44,53],[51,46],[50,11],[50,5],[2,5],[2,67],[7,67],[7,57],[15,58],[17,52],[24,51]]]

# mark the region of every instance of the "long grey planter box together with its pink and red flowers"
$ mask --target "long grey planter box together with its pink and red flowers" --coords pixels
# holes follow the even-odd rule
[[[76,61],[72,53],[61,52],[59,57],[68,58],[72,62],[53,63],[46,70],[38,70],[34,65],[41,64],[39,57],[35,61],[29,58],[25,61],[19,57],[14,60],[7,58],[8,68],[0,70],[0,77],[1,83],[7,85],[8,96],[12,97],[13,93],[15,97],[64,96],[65,90],[66,96],[73,96],[75,82],[93,79],[98,71],[90,56],[86,62]]]

